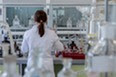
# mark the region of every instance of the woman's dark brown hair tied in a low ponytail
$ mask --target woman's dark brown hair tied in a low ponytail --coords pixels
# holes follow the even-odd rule
[[[37,10],[34,19],[36,22],[40,23],[38,26],[38,34],[42,37],[45,33],[44,23],[47,22],[47,14],[43,10]]]

